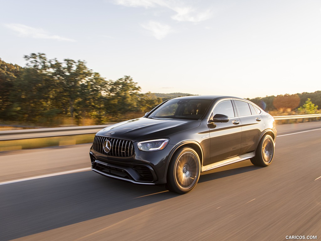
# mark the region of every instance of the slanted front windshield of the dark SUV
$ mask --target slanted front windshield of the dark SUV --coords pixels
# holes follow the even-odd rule
[[[200,119],[212,100],[173,99],[162,104],[148,115],[148,118]]]

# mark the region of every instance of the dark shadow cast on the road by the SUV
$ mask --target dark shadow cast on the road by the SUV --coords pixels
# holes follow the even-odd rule
[[[199,182],[255,170],[231,166],[207,173]],[[197,189],[197,187],[196,187]],[[92,171],[41,178],[0,186],[0,240],[11,240],[90,219],[131,210],[179,195],[164,186],[136,185],[100,176]],[[19,228],[17,228],[19,227]]]

